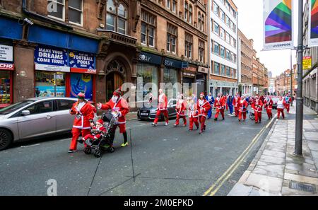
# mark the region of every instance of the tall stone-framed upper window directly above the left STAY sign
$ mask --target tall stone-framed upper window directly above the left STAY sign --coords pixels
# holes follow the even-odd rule
[[[141,44],[155,47],[156,17],[141,11]]]

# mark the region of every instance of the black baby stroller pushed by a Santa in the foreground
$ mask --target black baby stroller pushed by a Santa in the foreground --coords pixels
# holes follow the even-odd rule
[[[85,142],[86,148],[84,149],[84,153],[93,153],[96,158],[100,158],[104,151],[114,152],[112,143],[118,124],[118,115],[112,112],[102,113],[102,121],[107,123],[106,132],[100,134],[99,139],[87,139]]]

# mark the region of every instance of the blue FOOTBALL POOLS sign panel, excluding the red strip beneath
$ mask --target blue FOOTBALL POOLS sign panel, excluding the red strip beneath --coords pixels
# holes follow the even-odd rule
[[[69,52],[69,66],[77,69],[95,69],[95,57],[86,52]]]

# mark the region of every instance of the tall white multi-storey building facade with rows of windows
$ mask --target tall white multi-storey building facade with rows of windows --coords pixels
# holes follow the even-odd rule
[[[238,91],[237,6],[231,0],[211,0],[210,92],[234,95]]]

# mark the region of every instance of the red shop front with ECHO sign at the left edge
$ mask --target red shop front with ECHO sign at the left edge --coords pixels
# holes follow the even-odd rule
[[[13,46],[0,43],[0,108],[13,103]]]

